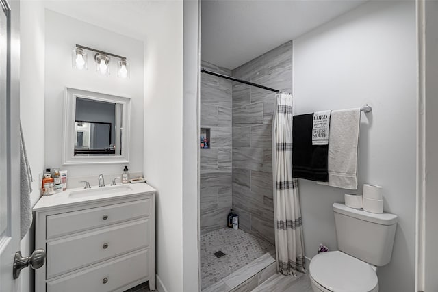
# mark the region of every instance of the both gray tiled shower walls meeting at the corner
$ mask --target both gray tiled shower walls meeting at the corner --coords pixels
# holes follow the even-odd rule
[[[231,70],[207,70],[292,92],[292,41]],[[211,129],[201,149],[201,234],[227,224],[231,206],[240,228],[274,243],[272,113],[275,93],[201,75],[201,127]]]

